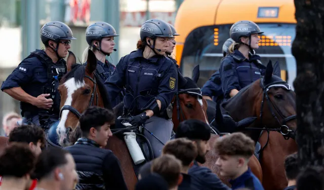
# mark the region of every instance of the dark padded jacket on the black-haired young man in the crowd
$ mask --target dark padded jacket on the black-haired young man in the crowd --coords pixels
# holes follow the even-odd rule
[[[76,189],[128,189],[119,161],[111,150],[100,148],[87,138],[79,138],[74,145],[64,149],[71,153],[76,165],[79,177]]]

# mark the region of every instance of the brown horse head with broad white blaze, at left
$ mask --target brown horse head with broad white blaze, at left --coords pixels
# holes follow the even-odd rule
[[[95,54],[89,50],[87,64],[83,65],[76,64],[75,56],[70,53],[67,68],[58,88],[61,95],[61,111],[56,132],[62,146],[69,144],[69,132],[76,128],[81,113],[91,105],[103,104],[94,74],[97,68]]]

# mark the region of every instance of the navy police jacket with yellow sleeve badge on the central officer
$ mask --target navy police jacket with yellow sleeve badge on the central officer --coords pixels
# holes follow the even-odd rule
[[[161,101],[160,111],[166,110],[177,92],[178,70],[167,57],[143,57],[137,50],[122,57],[114,74],[105,82],[112,101],[120,90],[126,88],[125,108],[133,115],[150,109],[156,100]]]

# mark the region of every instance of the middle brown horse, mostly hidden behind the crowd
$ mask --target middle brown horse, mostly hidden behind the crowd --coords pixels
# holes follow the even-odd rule
[[[194,77],[193,77],[194,78]],[[197,119],[208,123],[207,120],[207,102],[202,98],[200,89],[196,85],[196,81],[192,81],[189,78],[185,78],[188,82],[181,88],[175,98],[173,99],[173,118],[174,131],[177,131],[177,127],[180,121],[188,119]],[[178,104],[180,104],[178,106]],[[212,134],[209,140],[210,147],[212,148],[206,155],[206,163],[203,166],[210,168],[213,173],[216,173],[220,179],[230,186],[229,179],[221,177],[219,175],[219,168],[215,165],[218,155],[213,151],[215,140],[219,137],[217,134]],[[250,159],[249,167],[252,172],[262,181],[262,170],[259,161],[255,156]]]

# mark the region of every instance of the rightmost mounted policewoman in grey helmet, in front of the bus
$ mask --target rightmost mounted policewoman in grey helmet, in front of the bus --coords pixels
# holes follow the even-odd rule
[[[230,46],[232,52],[226,56],[220,68],[220,77],[224,98],[235,96],[238,91],[260,79],[265,72],[260,56],[251,54],[259,48],[261,34],[259,26],[252,21],[238,21],[230,28],[230,37],[235,43]]]

